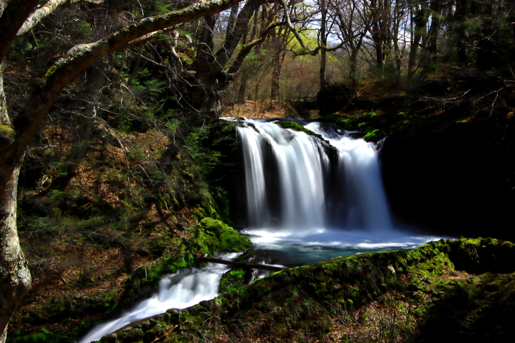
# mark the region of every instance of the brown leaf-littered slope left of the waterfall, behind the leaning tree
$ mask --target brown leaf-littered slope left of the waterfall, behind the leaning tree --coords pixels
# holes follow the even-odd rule
[[[87,303],[89,298],[100,301],[110,293],[114,294],[110,301],[116,301],[134,270],[173,251],[166,245],[168,237],[190,236],[187,230],[172,231],[176,224],[184,228],[196,224],[190,206],[174,211],[150,203],[143,204],[143,212],[127,211],[145,191],[135,167],[159,159],[170,145],[161,132],[125,134],[125,152],[93,139],[65,191],[45,195],[59,176],[61,158],[70,150],[73,137],[54,125],[45,127],[41,135],[46,144],[28,151],[28,175],[21,178],[21,184],[27,185],[19,195],[19,236],[32,287],[9,330],[21,337],[44,330],[66,333],[81,322],[97,321],[103,311],[86,309],[78,314],[74,304]],[[43,170],[37,169],[41,161]],[[129,166],[133,173],[126,175],[122,171]],[[38,175],[33,182],[31,173]],[[62,306],[68,306],[70,315]],[[55,321],[52,316],[64,318]]]

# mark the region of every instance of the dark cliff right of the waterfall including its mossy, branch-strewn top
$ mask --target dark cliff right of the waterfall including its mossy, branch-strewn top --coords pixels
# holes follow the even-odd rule
[[[318,119],[382,143],[399,224],[449,236],[515,239],[515,97],[494,72],[374,85]],[[345,113],[345,114],[344,114]],[[485,233],[486,232],[486,233]]]

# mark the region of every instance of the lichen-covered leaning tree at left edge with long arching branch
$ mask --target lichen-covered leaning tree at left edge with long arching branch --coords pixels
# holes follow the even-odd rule
[[[218,13],[242,1],[194,1],[182,9],[136,21],[96,42],[78,44],[47,70],[17,113],[9,113],[3,87],[4,69],[0,67],[0,343],[5,341],[9,320],[31,284],[16,230],[18,174],[30,140],[62,89],[86,67],[109,53],[130,46],[134,40]],[[0,0],[0,62],[3,63],[20,29],[30,30],[45,15],[77,2],[49,0],[36,8],[38,0]]]

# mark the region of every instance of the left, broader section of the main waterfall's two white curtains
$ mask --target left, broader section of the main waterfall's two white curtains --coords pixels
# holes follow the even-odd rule
[[[323,226],[322,165],[327,160],[319,153],[320,141],[276,124],[249,123],[238,128],[244,147],[249,226]]]

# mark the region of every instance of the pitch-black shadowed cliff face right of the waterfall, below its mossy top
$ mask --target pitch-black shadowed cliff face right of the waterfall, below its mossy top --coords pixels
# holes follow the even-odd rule
[[[388,138],[383,172],[394,213],[453,236],[514,240],[515,120],[450,123]]]

